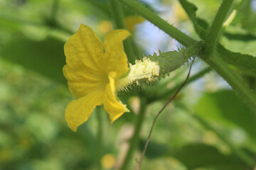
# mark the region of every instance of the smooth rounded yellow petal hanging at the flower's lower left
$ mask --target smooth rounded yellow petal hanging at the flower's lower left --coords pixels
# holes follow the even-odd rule
[[[102,91],[92,91],[82,98],[70,101],[65,109],[65,120],[74,132],[78,126],[87,121],[96,106],[102,105]]]

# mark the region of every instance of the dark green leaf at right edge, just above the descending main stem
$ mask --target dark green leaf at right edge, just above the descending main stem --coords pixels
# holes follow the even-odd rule
[[[228,64],[232,64],[238,67],[242,72],[256,77],[256,57],[243,55],[240,52],[231,52],[220,44],[218,44],[218,52],[220,53],[220,57]]]

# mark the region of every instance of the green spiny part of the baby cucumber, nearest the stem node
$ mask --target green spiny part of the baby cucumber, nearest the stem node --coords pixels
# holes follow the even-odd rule
[[[191,58],[190,55],[187,55],[185,51],[179,50],[177,51],[169,51],[169,52],[161,52],[159,51],[159,55],[149,55],[149,59],[156,64],[159,64],[160,67],[160,76],[165,77],[166,74],[173,72],[175,69],[178,69],[183,64],[188,62]]]

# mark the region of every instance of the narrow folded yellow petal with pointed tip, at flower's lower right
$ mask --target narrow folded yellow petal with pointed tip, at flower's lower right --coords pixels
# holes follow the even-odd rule
[[[107,111],[107,113],[110,115],[111,123],[113,123],[114,120],[117,120],[117,118],[124,114],[124,111],[127,111],[127,108],[120,101],[117,101],[116,95],[114,93],[114,79],[117,77],[117,73],[110,72],[108,77],[110,83],[107,84],[103,104],[105,111]]]

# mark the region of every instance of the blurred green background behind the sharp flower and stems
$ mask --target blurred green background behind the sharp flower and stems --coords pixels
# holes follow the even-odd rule
[[[198,39],[178,1],[143,2]],[[191,2],[198,7],[197,16],[211,23],[221,1]],[[132,159],[131,169],[135,169],[152,120],[171,96],[171,89],[185,79],[187,65],[150,86],[142,84],[127,94],[121,93],[120,98],[132,112],[113,124],[99,108],[103,130],[99,148],[97,113],[78,132],[71,131],[65,123],[65,107],[74,97],[63,77],[63,45],[80,23],[90,26],[103,40],[105,33],[114,29],[109,1],[0,0],[0,8],[0,169],[100,169],[99,164],[102,169],[118,169],[139,110],[137,92],[146,98],[166,94],[147,105],[141,140]],[[124,16],[133,45],[139,51],[136,58],[179,47],[175,40],[129,9],[124,8]],[[229,50],[256,56],[255,23],[256,1],[249,0],[225,28],[220,42]],[[196,60],[192,76],[205,67]],[[244,76],[252,90],[256,89],[255,77],[238,69],[233,71]],[[245,159],[255,160],[255,143],[255,114],[223,79],[208,72],[186,86],[159,117],[142,169],[252,169]]]

